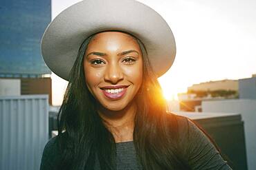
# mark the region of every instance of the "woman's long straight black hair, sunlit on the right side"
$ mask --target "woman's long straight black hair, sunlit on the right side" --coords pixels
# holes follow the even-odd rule
[[[86,87],[83,59],[95,34],[86,39],[78,52],[58,114],[61,162],[59,169],[116,169],[116,143],[97,112],[98,101]],[[134,36],[132,36],[134,37]],[[134,37],[143,54],[143,83],[134,100],[134,146],[143,169],[188,169],[179,153],[178,125],[166,113],[166,103],[157,76],[148,61],[143,43]]]

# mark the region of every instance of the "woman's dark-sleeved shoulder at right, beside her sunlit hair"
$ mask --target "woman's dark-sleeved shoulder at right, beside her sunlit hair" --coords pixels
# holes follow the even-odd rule
[[[176,119],[181,152],[191,169],[231,169],[199,125],[185,116],[171,116]]]

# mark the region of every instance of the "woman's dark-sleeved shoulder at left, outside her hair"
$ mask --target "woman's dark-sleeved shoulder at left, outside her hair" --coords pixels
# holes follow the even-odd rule
[[[40,170],[55,169],[57,161],[60,160],[60,151],[57,145],[57,136],[48,140],[44,147]]]

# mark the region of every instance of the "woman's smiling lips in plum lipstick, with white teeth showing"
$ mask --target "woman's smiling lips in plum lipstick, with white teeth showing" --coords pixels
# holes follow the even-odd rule
[[[107,98],[111,100],[118,100],[122,98],[122,96],[125,96],[127,87],[129,87],[129,85],[109,85],[100,87],[100,89]]]

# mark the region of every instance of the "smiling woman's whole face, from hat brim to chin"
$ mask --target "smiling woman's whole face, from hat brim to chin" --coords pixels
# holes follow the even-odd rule
[[[84,75],[89,91],[106,109],[125,109],[143,81],[143,56],[129,34],[100,32],[84,55]]]

